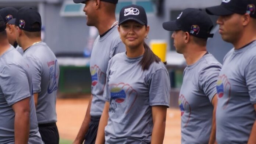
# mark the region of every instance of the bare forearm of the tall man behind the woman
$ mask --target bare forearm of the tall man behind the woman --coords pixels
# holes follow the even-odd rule
[[[89,129],[89,123],[90,123],[90,107],[92,104],[92,96],[90,97],[89,104],[86,110],[85,118],[83,119],[83,123],[80,127],[80,130],[77,134],[77,137],[75,138],[75,141],[73,144],[82,144],[83,140],[85,138],[85,134],[88,132]]]

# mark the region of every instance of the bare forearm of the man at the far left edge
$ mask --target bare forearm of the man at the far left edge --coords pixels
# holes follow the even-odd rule
[[[14,137],[15,144],[28,144],[29,138],[29,111],[15,113]]]

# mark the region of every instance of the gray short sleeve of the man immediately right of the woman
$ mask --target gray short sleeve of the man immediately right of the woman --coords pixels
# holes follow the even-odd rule
[[[220,70],[220,64],[211,64],[203,68],[199,74],[199,89],[206,94],[210,101],[217,93],[216,84]]]

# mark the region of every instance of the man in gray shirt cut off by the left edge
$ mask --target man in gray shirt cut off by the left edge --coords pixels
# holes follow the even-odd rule
[[[0,143],[43,144],[32,93],[32,76],[24,58],[7,39],[0,16]]]

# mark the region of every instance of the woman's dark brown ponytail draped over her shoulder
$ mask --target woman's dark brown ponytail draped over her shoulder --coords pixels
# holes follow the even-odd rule
[[[143,46],[145,48],[145,52],[144,52],[143,58],[139,62],[139,64],[141,65],[142,70],[145,71],[145,70],[149,69],[149,66],[153,62],[159,63],[161,60],[159,57],[157,57],[157,55],[155,55],[153,53],[153,51],[149,48],[149,46],[145,42],[144,42]]]

